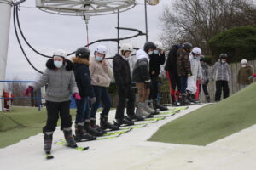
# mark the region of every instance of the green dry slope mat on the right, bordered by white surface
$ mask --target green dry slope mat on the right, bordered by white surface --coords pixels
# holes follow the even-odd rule
[[[207,145],[256,123],[256,82],[217,104],[167,123],[149,141]]]

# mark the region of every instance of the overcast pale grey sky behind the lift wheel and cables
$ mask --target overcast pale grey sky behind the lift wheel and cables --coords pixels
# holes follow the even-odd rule
[[[145,32],[145,16],[143,0],[137,0],[138,5],[129,11],[120,13],[120,27],[136,28]],[[164,6],[169,5],[170,0],[161,0],[158,5],[148,5],[148,40],[159,40],[160,14]],[[64,49],[67,53],[73,52],[86,44],[86,30],[84,20],[80,16],[64,16],[49,14],[36,8],[35,1],[26,0],[20,4],[20,26],[28,42],[42,54],[52,55],[56,49]],[[89,20],[90,42],[103,38],[116,38],[117,14],[92,16]],[[133,31],[120,31],[120,37],[134,35]],[[146,37],[136,37],[121,42],[130,42],[134,47],[143,48]],[[35,54],[22,42],[28,58],[40,71],[44,71],[44,58]],[[112,57],[117,52],[116,42],[98,42],[90,46],[93,52],[97,45],[104,44],[108,47],[107,57]],[[72,56],[71,56],[72,57]],[[70,58],[70,57],[69,57]],[[13,19],[11,18],[9,32],[9,50],[6,70],[6,80],[36,80],[37,71],[27,63],[15,37]]]

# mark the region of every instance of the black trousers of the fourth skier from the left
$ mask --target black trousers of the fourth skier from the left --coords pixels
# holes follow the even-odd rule
[[[126,107],[126,113],[129,116],[134,115],[135,110],[135,94],[131,89],[131,85],[125,85],[124,87],[117,87],[118,93],[119,93],[119,103],[117,105],[115,118],[116,119],[124,119],[125,118],[125,105],[127,103]],[[128,99],[128,101],[127,101]],[[127,102],[126,102],[127,101]]]

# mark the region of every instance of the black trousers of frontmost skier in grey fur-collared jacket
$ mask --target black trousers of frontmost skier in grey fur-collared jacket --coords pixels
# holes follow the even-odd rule
[[[72,126],[72,117],[69,113],[70,100],[63,102],[46,101],[47,122],[43,133],[54,132],[59,116],[61,116],[61,130]]]

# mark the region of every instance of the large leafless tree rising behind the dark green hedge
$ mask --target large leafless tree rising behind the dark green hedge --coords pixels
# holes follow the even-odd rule
[[[256,24],[251,0],[176,0],[164,8],[161,39],[166,47],[192,42],[210,54],[207,41],[221,31]]]

